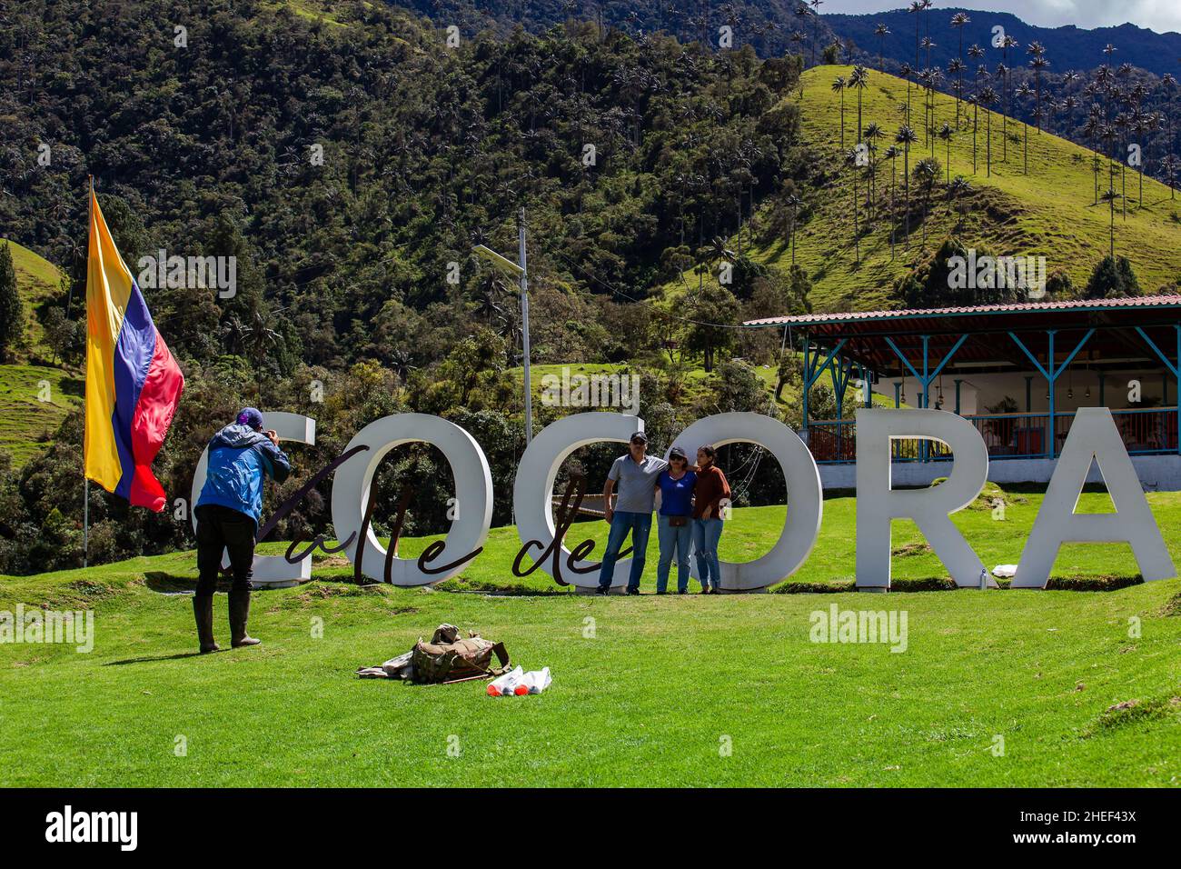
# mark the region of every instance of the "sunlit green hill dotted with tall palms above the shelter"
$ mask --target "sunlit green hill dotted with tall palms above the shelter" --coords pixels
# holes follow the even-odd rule
[[[1029,174],[1024,173],[1025,125],[1010,121],[1010,135],[1018,135],[1020,143],[1003,144],[1001,115],[992,112],[992,170],[986,168],[987,115],[979,114],[977,136],[977,168],[972,167],[972,129],[967,117],[972,106],[960,105],[959,130],[947,144],[934,140],[934,148],[926,144],[922,132],[922,95],[911,85],[912,127],[919,142],[911,147],[909,166],[932,154],[942,167],[935,184],[926,223],[926,244],[922,241],[922,194],[911,182],[911,234],[901,218],[903,201],[903,157],[896,161],[895,200],[899,220],[877,216],[866,226],[866,210],[860,208],[861,258],[854,247],[853,182],[843,169],[841,149],[841,95],[831,89],[837,76],[849,78],[852,66],[817,66],[803,74],[803,97],[792,93],[788,99],[800,99],[804,138],[821,163],[828,182],[820,192],[802,194],[814,209],[802,222],[796,238],[796,261],[813,281],[811,300],[817,311],[874,310],[896,307],[894,283],[928,257],[935,247],[955,231],[959,215],[947,201],[948,163],[951,176],[963,175],[973,188],[964,200],[967,214],[955,234],[967,247],[997,255],[1033,255],[1046,258],[1046,273],[1065,271],[1076,291],[1085,286],[1095,264],[1108,253],[1109,208],[1103,201],[1095,205],[1095,182],[1091,171],[1092,153],[1048,132],[1029,130]],[[869,71],[869,85],[862,92],[862,128],[877,123],[886,136],[880,140],[877,154],[893,143],[903,123],[907,103],[907,83],[876,70]],[[946,121],[954,125],[954,97],[937,93],[934,127]],[[844,149],[856,142],[857,96],[844,92]],[[1007,148],[1007,155],[1005,155]],[[1156,155],[1159,156],[1159,155]],[[1155,158],[1148,155],[1148,158]],[[1101,193],[1105,189],[1105,169],[1101,174]],[[1140,279],[1143,292],[1156,292],[1161,286],[1181,279],[1181,200],[1164,184],[1144,179],[1143,203],[1138,200],[1138,176],[1127,171],[1127,218],[1124,202],[1116,202],[1115,251],[1128,257]],[[866,181],[859,181],[862,201]],[[881,201],[889,197],[890,167],[882,160],[876,176]],[[1123,193],[1116,177],[1116,193]],[[769,208],[761,220],[765,221]],[[892,258],[890,229],[895,232]],[[756,233],[757,236],[757,233]],[[743,251],[771,268],[787,272],[791,252],[785,238],[753,245],[744,232]],[[731,246],[737,240],[731,239]],[[685,281],[696,285],[697,277],[686,272]],[[680,283],[666,288],[666,297],[680,294]]]

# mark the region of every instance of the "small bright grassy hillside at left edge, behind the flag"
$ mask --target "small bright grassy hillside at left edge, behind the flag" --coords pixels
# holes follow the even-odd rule
[[[27,349],[19,364],[0,365],[0,449],[11,453],[19,466],[41,448],[70,408],[81,403],[84,382],[80,372],[39,364],[48,362],[52,351],[35,307],[58,291],[61,273],[28,248],[14,241],[8,245],[25,303]]]

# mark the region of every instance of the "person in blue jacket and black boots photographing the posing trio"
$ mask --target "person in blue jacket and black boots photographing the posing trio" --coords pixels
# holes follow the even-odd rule
[[[209,469],[194,507],[197,517],[197,590],[193,614],[197,621],[201,653],[217,651],[214,640],[214,591],[222,551],[229,552],[234,581],[229,592],[230,644],[257,646],[246,633],[250,615],[250,578],[254,543],[262,512],[262,484],[269,476],[282,482],[291,474],[279,435],[262,430],[262,414],[244,408],[237,421],[209,441]]]

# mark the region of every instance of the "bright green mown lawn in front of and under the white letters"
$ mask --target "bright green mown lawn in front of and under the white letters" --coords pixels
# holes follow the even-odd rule
[[[1006,500],[1004,521],[983,504],[957,519],[992,566],[1017,559],[1040,497],[987,494]],[[1181,558],[1181,495],[1149,500]],[[1105,504],[1089,493],[1081,510]],[[854,506],[826,502],[820,541],[795,578],[852,577]],[[757,555],[782,517],[736,511],[723,556]],[[605,528],[576,526],[600,540]],[[405,540],[402,553],[426,543]],[[462,581],[437,591],[360,589],[341,582],[350,571],[339,557],[322,559],[315,582],[255,595],[261,648],[210,656],[190,654],[189,598],[164,594],[191,581],[191,553],[0,577],[0,609],[91,607],[97,623],[89,655],[0,646],[0,785],[1181,782],[1176,579],[1114,592],[602,599],[536,594],[556,586],[511,577],[517,545],[515,530],[495,530]],[[894,545],[896,577],[942,576],[909,524],[896,525]],[[1134,572],[1123,546],[1070,546],[1056,569]],[[470,591],[514,586],[534,594]],[[905,610],[906,651],[809,642],[813,611],[831,604]],[[224,642],[224,596],[216,607]],[[353,676],[444,621],[503,640],[527,668],[549,666],[553,687],[492,700],[479,682]]]

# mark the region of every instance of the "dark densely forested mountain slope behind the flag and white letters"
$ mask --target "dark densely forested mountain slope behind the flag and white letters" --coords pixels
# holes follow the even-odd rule
[[[698,346],[684,320],[635,300],[707,259],[711,240],[724,249],[762,200],[811,171],[783,99],[800,63],[593,22],[452,46],[445,27],[380,5],[305,13],[240,0],[6,7],[0,236],[74,278],[37,303],[41,322],[72,305],[77,323],[89,175],[133,271],[159,249],[236,258],[229,298],[144,290],[188,380],[156,462],[170,497],[187,494],[213,421],[240,403],[320,421],[288,489],[365,422],[420,410],[477,435],[497,479],[495,519],[508,521],[523,447],[509,371],[518,306],[472,247],[515,251],[527,208],[535,363]],[[718,299],[739,322],[733,296],[706,284],[700,305]],[[81,337],[53,351],[77,365]],[[765,403],[762,382],[739,375],[726,400]],[[673,429],[698,413],[691,391],[676,395],[663,411]],[[537,408],[539,423],[555,413]],[[80,434],[74,415],[47,453],[0,468],[0,572],[79,557]],[[430,461],[391,468],[383,485],[411,474],[448,486]],[[92,493],[93,558],[184,545],[174,515]],[[412,521],[445,527],[425,507]],[[279,533],[327,523],[321,494]]]

